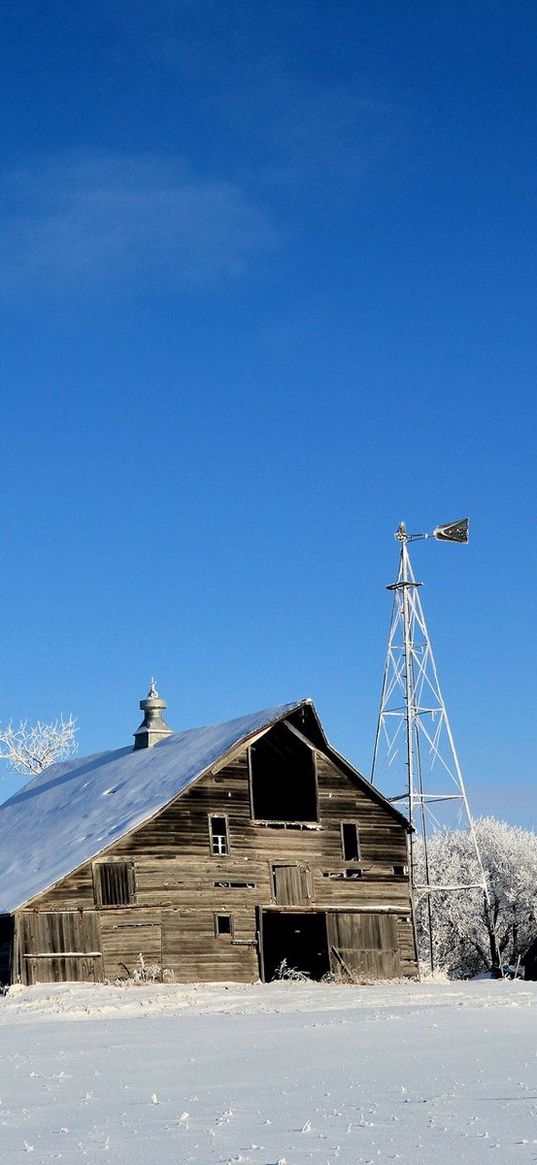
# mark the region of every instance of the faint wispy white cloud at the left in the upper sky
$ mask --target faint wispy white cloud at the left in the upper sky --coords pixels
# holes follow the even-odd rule
[[[5,294],[235,280],[276,239],[239,183],[151,155],[38,160],[0,190]]]

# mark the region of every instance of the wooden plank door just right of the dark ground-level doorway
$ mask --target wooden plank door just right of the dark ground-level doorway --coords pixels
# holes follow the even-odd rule
[[[327,915],[332,970],[368,979],[396,979],[401,974],[397,922],[393,915],[334,911]]]

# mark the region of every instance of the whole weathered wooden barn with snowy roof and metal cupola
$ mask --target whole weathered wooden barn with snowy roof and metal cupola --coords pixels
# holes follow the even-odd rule
[[[417,974],[409,824],[310,700],[52,765],[0,806],[3,982]]]

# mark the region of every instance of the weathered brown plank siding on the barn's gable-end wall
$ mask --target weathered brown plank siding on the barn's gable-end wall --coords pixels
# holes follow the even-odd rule
[[[319,821],[303,827],[252,820],[246,748],[202,777],[150,821],[19,912],[21,977],[26,974],[28,918],[43,912],[91,911],[99,920],[105,979],[126,974],[125,968],[133,972],[142,954],[146,962],[172,972],[183,982],[253,981],[260,973],[256,910],[277,909],[274,868],[285,866],[301,871],[295,880],[298,877],[302,887],[298,898],[303,910],[393,915],[397,973],[416,975],[409,882],[405,875],[394,874],[394,867],[401,869],[407,863],[405,829],[386,805],[367,789],[356,788],[320,751],[316,753],[316,765]],[[227,818],[227,855],[211,854],[210,814]],[[342,859],[345,820],[359,825],[359,861]],[[133,863],[134,901],[128,906],[98,909],[94,867],[114,860]],[[285,891],[282,894],[285,898]],[[296,887],[289,890],[288,902],[297,894]],[[233,934],[215,934],[217,913],[233,916]]]

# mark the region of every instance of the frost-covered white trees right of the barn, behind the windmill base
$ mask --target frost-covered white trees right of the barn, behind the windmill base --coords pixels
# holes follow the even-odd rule
[[[481,970],[497,974],[514,963],[535,938],[537,920],[537,835],[495,818],[475,821],[487,871],[490,908],[481,890],[438,891],[431,896],[434,965],[454,979]],[[428,843],[430,882],[475,883],[479,870],[468,831],[445,829]],[[423,847],[416,842],[417,882],[423,882]],[[426,898],[417,904],[418,942],[429,960]]]

